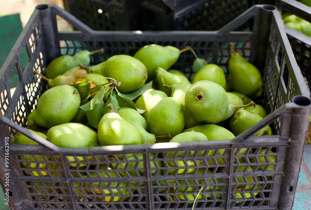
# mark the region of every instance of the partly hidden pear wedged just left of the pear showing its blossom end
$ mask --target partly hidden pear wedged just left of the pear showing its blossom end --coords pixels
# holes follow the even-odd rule
[[[172,91],[171,97],[177,98],[183,104],[183,115],[185,117],[186,128],[191,128],[200,124],[195,119],[193,119],[193,117],[191,117],[189,110],[185,105],[185,95],[190,86],[191,84],[188,82],[179,82],[169,87]]]

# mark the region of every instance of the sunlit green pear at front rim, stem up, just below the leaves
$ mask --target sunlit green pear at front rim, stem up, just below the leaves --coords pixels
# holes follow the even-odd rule
[[[101,118],[97,132],[100,146],[142,143],[142,137],[135,126],[114,112],[109,112]]]

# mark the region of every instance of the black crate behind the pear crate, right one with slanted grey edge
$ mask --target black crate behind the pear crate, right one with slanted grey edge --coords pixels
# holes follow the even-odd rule
[[[154,23],[156,30],[213,31],[245,12],[249,0],[144,0],[147,23]]]

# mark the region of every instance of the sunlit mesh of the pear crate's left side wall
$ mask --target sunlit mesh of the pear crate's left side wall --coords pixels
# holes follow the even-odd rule
[[[26,116],[28,116],[30,113],[29,109],[31,109],[29,107],[31,104],[33,104],[33,108],[35,107],[36,100],[39,98],[38,94],[40,95],[40,92],[42,92],[43,89],[42,80],[37,79],[35,81],[33,78],[34,74],[32,74],[32,72],[29,70],[33,69],[39,71],[40,73],[44,73],[41,70],[43,65],[43,54],[39,50],[39,45],[41,44],[41,32],[39,24],[33,23],[33,25],[34,30],[28,33],[29,37],[26,38],[26,45],[24,46],[24,50],[26,50],[30,62],[28,62],[26,65],[26,69],[21,69],[20,60],[17,56],[16,64],[13,67],[13,71],[19,75],[19,83],[17,84],[14,92],[15,97],[19,98],[17,99],[18,102],[17,105],[14,106],[14,109],[12,109],[13,106],[11,105],[13,103],[13,94],[11,94],[10,91],[7,91],[9,88],[12,88],[9,85],[9,79],[6,79],[4,81],[4,86],[1,87],[6,88],[7,90],[3,90],[0,93],[0,107],[2,115],[11,116],[11,120],[17,124],[20,124],[21,126],[26,125]],[[36,57],[38,58],[35,59]],[[10,73],[11,72],[5,72],[5,74],[8,74],[5,76],[5,78],[9,78]],[[41,83],[41,86],[39,83]],[[7,109],[9,106],[11,107],[10,110]],[[9,130],[11,136],[16,135],[16,131],[14,129],[9,128]]]

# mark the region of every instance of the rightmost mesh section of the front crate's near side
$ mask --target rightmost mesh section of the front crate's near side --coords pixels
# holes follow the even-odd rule
[[[239,151],[244,151],[240,153]],[[267,208],[272,200],[276,165],[284,164],[277,147],[238,148],[234,152],[230,207]],[[274,192],[275,193],[275,192]]]

